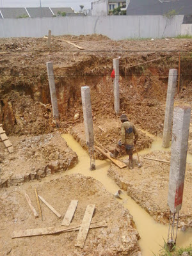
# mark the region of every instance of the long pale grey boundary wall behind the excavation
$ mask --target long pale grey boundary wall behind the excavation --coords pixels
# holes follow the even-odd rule
[[[1,19],[0,38],[42,37],[52,35],[106,35],[114,40],[125,38],[161,38],[181,34],[184,15],[172,20],[162,15],[150,16],[85,16],[36,19]]]

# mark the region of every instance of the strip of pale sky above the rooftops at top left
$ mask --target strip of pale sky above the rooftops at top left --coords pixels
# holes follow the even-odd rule
[[[71,7],[76,12],[80,10],[79,5],[84,9],[91,9],[91,3],[96,0],[0,0],[0,7]]]

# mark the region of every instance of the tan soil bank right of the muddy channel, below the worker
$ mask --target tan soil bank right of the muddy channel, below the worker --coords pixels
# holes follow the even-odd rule
[[[154,151],[140,156],[141,168],[134,161],[134,170],[116,168],[114,164],[108,170],[108,175],[115,180],[120,188],[127,191],[156,221],[169,223],[170,209],[167,204],[170,164],[143,159],[143,156],[170,161],[170,153]],[[179,227],[191,227],[192,191],[191,164],[186,165],[186,178],[182,209],[179,214]]]

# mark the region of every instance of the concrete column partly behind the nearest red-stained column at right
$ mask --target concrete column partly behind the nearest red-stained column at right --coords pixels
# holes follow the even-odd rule
[[[172,131],[172,117],[173,105],[175,97],[175,88],[177,84],[177,69],[170,69],[168,88],[166,95],[166,109],[164,115],[164,128],[163,128],[163,147],[170,147],[171,131]]]

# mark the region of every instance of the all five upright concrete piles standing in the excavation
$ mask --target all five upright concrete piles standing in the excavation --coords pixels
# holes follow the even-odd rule
[[[120,113],[120,94],[119,94],[119,60],[113,60],[113,68],[115,70],[114,79],[114,110],[116,115]],[[58,120],[58,105],[56,98],[56,89],[54,84],[54,74],[52,63],[47,63],[47,72],[49,77],[49,88],[51,92],[51,102],[53,116]],[[177,239],[177,232],[174,236],[174,223],[175,214],[178,213],[177,221],[179,218],[179,211],[182,206],[182,196],[184,189],[184,177],[186,170],[186,157],[188,151],[188,136],[189,136],[189,123],[191,118],[191,108],[188,106],[174,107],[175,89],[177,86],[177,70],[170,69],[168,79],[168,90],[166,97],[166,111],[164,116],[164,129],[163,129],[163,147],[170,147],[170,138],[172,132],[172,148],[171,148],[171,162],[170,162],[170,179],[168,189],[168,205],[170,207],[170,220],[173,214],[173,223],[171,223],[171,231],[168,236],[168,244],[175,244]],[[90,166],[91,170],[95,170],[94,153],[94,135],[93,135],[93,120],[92,120],[92,105],[90,97],[90,87],[81,87],[81,98],[83,104],[83,117],[84,128],[86,135],[86,145],[90,151]],[[172,129],[173,122],[173,129]],[[177,227],[176,227],[177,228]]]

